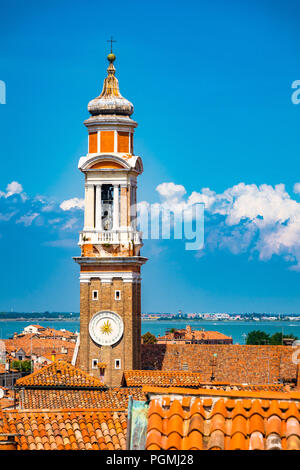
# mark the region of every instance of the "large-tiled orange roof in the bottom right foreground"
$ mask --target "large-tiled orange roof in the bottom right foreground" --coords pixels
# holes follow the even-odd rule
[[[299,401],[152,398],[147,450],[300,450]]]

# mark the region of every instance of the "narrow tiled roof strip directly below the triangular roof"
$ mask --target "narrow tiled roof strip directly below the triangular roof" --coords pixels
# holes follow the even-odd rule
[[[107,390],[25,389],[19,392],[18,402],[21,409],[107,408],[127,411],[129,395],[135,400],[146,399],[141,387]]]

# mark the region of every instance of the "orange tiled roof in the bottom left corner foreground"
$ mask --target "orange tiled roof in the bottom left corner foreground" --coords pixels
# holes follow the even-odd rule
[[[0,434],[18,434],[19,450],[125,450],[126,428],[107,410],[0,411]]]

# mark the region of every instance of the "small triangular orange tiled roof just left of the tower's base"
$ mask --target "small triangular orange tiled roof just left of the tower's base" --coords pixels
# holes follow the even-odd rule
[[[69,362],[57,361],[16,382],[17,387],[103,388],[103,383]]]

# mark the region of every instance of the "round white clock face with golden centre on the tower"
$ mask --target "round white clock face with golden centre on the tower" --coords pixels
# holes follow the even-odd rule
[[[114,312],[99,312],[93,316],[89,324],[90,336],[100,346],[112,346],[123,335],[122,318]]]

